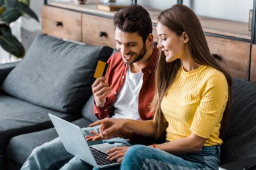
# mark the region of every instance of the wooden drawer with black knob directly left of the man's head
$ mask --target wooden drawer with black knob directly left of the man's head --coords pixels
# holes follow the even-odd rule
[[[82,42],[115,48],[113,19],[82,14]]]

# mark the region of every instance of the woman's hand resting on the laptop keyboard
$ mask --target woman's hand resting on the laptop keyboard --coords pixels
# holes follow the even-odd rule
[[[110,161],[117,159],[117,162],[121,163],[123,161],[123,157],[125,156],[125,153],[128,150],[128,148],[129,146],[111,148],[106,152],[107,154],[110,154],[106,159]]]

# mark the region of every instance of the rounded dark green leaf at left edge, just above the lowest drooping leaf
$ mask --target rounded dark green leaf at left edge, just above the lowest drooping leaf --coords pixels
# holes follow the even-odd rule
[[[3,22],[11,23],[17,20],[22,15],[22,11],[16,8],[10,8],[3,12],[1,17]]]

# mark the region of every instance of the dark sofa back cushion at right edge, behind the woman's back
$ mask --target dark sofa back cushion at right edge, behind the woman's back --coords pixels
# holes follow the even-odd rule
[[[222,144],[221,163],[256,156],[256,84],[234,79],[230,127]]]

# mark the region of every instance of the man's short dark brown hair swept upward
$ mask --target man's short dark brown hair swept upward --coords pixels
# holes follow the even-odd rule
[[[114,15],[113,20],[115,28],[119,28],[123,32],[137,32],[142,37],[143,42],[152,33],[150,14],[141,5],[129,5],[129,7],[120,9]]]

